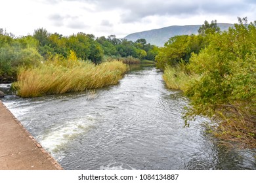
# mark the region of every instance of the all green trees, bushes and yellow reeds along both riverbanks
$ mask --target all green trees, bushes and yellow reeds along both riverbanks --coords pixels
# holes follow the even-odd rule
[[[255,45],[256,22],[247,18],[228,31],[205,21],[198,35],[171,37],[161,48],[114,35],[64,37],[40,28],[15,37],[0,29],[0,82],[16,81],[18,95],[37,97],[117,84],[125,64],[156,63],[167,87],[190,99],[186,125],[207,116],[207,131],[223,143],[256,148]]]

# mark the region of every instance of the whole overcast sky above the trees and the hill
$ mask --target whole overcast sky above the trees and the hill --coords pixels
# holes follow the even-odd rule
[[[39,27],[62,35],[84,32],[96,37],[167,27],[256,20],[255,0],[6,0],[0,3],[0,28],[32,35]]]

